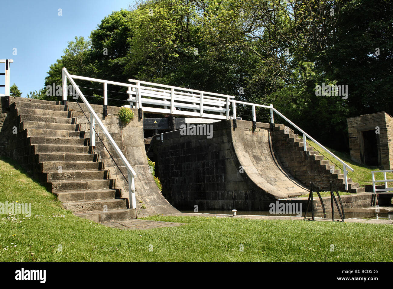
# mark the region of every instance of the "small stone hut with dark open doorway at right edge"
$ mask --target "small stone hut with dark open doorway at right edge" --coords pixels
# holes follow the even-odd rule
[[[384,111],[347,118],[351,159],[393,169],[393,118]]]

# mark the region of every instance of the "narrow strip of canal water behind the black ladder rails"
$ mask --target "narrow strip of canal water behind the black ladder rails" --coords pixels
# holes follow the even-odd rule
[[[329,208],[330,209],[330,208]],[[181,211],[183,213],[195,213],[194,211]],[[207,214],[224,214],[232,215],[231,210],[211,210],[211,211],[198,211],[198,213]],[[263,215],[263,216],[296,216],[296,214],[270,214],[269,211],[240,211],[236,212],[237,215]],[[365,208],[344,208],[345,219],[358,218],[358,219],[386,219],[393,220],[393,206],[389,207],[365,207]],[[304,212],[302,212],[304,216]],[[311,217],[311,211],[307,213]],[[316,211],[315,217],[323,217],[322,211]],[[326,217],[331,218],[332,212],[327,211]],[[334,218],[339,219],[340,215],[334,207]]]

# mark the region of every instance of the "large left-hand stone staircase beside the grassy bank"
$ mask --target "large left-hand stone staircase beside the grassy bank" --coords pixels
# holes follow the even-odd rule
[[[28,166],[64,208],[100,223],[136,218],[68,106],[16,98],[10,110],[22,150],[30,150]]]

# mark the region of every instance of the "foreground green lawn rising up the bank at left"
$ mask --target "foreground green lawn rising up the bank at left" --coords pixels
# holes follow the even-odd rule
[[[187,225],[108,228],[64,210],[44,187],[7,162],[0,160],[0,202],[31,202],[32,215],[0,215],[0,261],[393,260],[391,225],[153,216],[147,219]]]

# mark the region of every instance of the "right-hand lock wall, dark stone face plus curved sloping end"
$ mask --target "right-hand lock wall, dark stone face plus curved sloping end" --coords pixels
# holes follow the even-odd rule
[[[274,200],[307,193],[277,161],[268,124],[257,123],[255,131],[251,121],[209,125],[210,138],[182,130],[152,138],[147,155],[176,208],[266,210]]]

